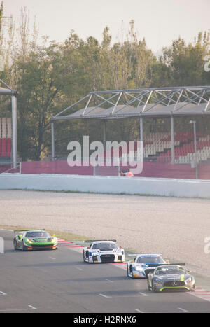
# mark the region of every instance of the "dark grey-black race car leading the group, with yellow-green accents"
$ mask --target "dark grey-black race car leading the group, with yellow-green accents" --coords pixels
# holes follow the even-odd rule
[[[184,264],[182,264],[184,265]],[[160,265],[148,274],[149,291],[194,291],[195,278],[181,265]]]

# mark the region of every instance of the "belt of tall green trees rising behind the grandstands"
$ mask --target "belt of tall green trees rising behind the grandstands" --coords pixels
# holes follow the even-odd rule
[[[137,38],[133,20],[122,42],[111,44],[109,27],[105,27],[101,44],[92,36],[80,39],[71,30],[62,44],[49,43],[45,37],[38,45],[36,25],[31,33],[26,8],[21,11],[20,27],[13,27],[7,35],[1,31],[2,15],[3,4],[0,51],[6,58],[6,67],[0,78],[18,90],[18,151],[22,160],[41,160],[50,152],[50,118],[90,91],[210,84],[210,73],[204,71],[204,56],[209,53],[208,32],[200,33],[194,43],[186,44],[181,38],[173,41],[157,58],[147,48],[146,40]],[[3,39],[8,40],[4,45]],[[9,101],[1,100],[1,116],[8,109]],[[202,118],[198,119],[200,128],[208,129],[207,120],[203,124]],[[177,120],[177,130],[185,130],[186,126],[188,121]],[[145,132],[155,130],[169,130],[169,120],[146,119]],[[82,141],[87,134],[90,141],[102,140],[102,123],[56,123],[56,153],[66,153],[69,141]],[[118,141],[138,139],[139,120],[110,120],[107,137]]]

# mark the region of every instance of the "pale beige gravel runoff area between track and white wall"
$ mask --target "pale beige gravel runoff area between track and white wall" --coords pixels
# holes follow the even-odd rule
[[[117,239],[126,249],[163,253],[210,276],[210,253],[204,253],[210,201],[205,199],[0,190],[0,225]]]

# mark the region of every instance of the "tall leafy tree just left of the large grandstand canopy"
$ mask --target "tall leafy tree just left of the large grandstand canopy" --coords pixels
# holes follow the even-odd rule
[[[62,96],[67,68],[56,43],[48,47],[38,46],[28,53],[27,59],[17,61],[16,65],[20,74],[20,151],[23,159],[29,156],[40,160],[50,143],[50,118]]]

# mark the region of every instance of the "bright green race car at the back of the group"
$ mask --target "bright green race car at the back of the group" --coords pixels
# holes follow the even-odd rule
[[[14,249],[22,251],[55,250],[57,237],[50,236],[45,230],[14,230]]]

